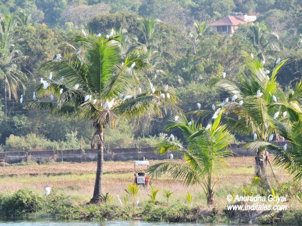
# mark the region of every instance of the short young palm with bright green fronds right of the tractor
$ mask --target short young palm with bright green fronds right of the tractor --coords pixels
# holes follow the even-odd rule
[[[224,157],[231,155],[227,147],[234,141],[234,136],[220,123],[221,113],[207,128],[193,121],[189,124],[185,116],[180,116],[166,129],[179,128],[188,143],[187,148],[178,142],[163,141],[156,152],[162,155],[168,151],[179,152],[183,154],[185,163],[158,163],[150,167],[148,173],[155,178],[168,174],[183,180],[187,186],[200,185],[207,196],[207,203],[213,204],[213,189],[219,181],[214,182],[213,176],[221,176],[221,169],[227,165]]]

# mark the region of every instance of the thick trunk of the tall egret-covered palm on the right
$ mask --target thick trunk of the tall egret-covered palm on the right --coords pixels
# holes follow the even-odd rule
[[[266,175],[266,166],[267,166],[267,156],[266,149],[257,150],[255,157],[255,176],[260,177],[265,185],[265,187],[270,187]]]

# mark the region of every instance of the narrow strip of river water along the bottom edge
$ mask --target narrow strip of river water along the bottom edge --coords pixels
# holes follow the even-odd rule
[[[209,223],[162,223],[143,221],[56,221],[52,219],[9,219],[1,218],[0,225],[4,226],[245,226],[248,224],[209,224]]]

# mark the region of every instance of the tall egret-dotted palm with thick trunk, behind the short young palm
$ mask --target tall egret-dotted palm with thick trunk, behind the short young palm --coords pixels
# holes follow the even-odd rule
[[[228,92],[230,99],[237,97],[236,101],[221,102],[218,105],[222,105],[222,108],[230,113],[224,120],[231,130],[241,135],[252,135],[259,141],[268,141],[273,133],[277,133],[271,120],[274,118],[283,120],[282,112],[285,109],[274,104],[274,98],[281,98],[284,95],[276,81],[276,75],[287,60],[281,61],[271,73],[268,73],[264,71],[259,58],[253,58],[246,52],[243,53],[243,57],[249,73],[247,75],[242,73],[238,82],[228,78],[212,81],[212,84]],[[257,149],[255,174],[269,187],[266,175],[268,161],[266,148]]]

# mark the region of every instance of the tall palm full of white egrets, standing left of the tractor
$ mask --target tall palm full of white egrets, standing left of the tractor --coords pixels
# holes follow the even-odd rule
[[[114,126],[118,117],[134,118],[145,112],[161,115],[161,106],[172,106],[177,102],[177,97],[167,89],[135,93],[135,73],[147,66],[147,59],[135,50],[123,62],[119,37],[107,39],[83,33],[84,37],[75,37],[75,41],[83,43],[85,55],[73,56],[67,52],[61,59],[47,60],[41,64],[41,69],[52,71],[61,79],[60,82],[42,79],[38,95],[49,93],[57,101],[39,100],[32,106],[49,109],[52,114],[92,120],[95,128],[92,140],[98,141],[98,162],[91,203],[96,203],[103,192],[106,126]]]

